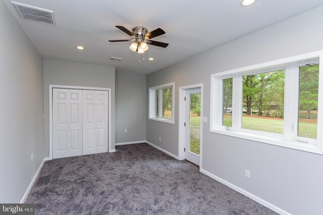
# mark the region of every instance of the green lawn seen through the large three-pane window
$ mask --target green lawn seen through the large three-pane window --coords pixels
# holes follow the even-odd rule
[[[224,115],[223,124],[232,126],[231,114]],[[244,115],[242,117],[242,128],[282,134],[284,132],[284,119]],[[301,137],[316,138],[317,120],[301,119],[298,130],[298,135]]]

